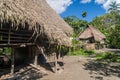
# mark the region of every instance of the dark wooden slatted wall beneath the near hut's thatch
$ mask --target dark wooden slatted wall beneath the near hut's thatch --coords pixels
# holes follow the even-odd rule
[[[0,29],[0,43],[28,43],[33,31]]]

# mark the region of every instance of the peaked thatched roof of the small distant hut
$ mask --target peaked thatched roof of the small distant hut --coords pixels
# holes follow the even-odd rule
[[[89,39],[93,37],[95,41],[101,41],[106,38],[103,33],[93,26],[88,26],[78,37],[79,39]]]

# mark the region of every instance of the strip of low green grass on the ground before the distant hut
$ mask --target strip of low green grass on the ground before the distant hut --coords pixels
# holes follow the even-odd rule
[[[95,56],[96,60],[98,61],[107,61],[107,62],[119,62],[120,63],[120,55],[117,55],[116,53],[113,52],[101,52],[101,53],[95,53],[94,50],[74,50],[68,53],[68,55],[75,55],[75,56],[90,56],[93,55]]]

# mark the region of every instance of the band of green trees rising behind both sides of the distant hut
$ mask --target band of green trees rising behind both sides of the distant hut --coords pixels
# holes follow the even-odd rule
[[[85,20],[80,20],[76,16],[65,17],[64,20],[74,29],[74,37],[86,28],[86,25],[97,27],[103,34],[106,35],[106,44],[109,48],[120,48],[120,14],[106,13],[98,16],[90,23]],[[75,43],[77,43],[74,40]],[[74,43],[73,42],[73,43]]]

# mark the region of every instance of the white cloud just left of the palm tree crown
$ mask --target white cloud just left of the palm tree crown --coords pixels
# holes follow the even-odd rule
[[[107,11],[109,9],[109,5],[116,1],[116,3],[120,3],[120,0],[95,0],[96,3],[102,4],[102,7]]]

